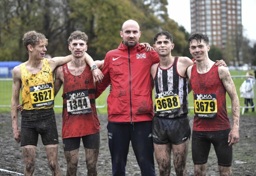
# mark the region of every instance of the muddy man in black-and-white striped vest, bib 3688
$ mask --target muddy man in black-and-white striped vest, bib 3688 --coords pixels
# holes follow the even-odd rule
[[[177,175],[186,175],[190,138],[188,119],[188,81],[186,70],[193,61],[188,57],[172,56],[173,37],[161,31],[154,38],[154,48],[160,63],[151,66],[155,83],[155,116],[152,136],[160,176],[169,176],[171,151]]]

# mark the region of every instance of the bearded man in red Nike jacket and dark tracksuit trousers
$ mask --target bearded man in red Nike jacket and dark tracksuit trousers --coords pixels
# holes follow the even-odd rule
[[[104,79],[97,84],[96,98],[112,83],[108,96],[108,138],[112,175],[125,175],[130,140],[142,176],[155,175],[152,141],[153,102],[150,67],[159,62],[155,51],[139,46],[139,25],[123,23],[123,38],[118,49],[109,51],[104,60]]]

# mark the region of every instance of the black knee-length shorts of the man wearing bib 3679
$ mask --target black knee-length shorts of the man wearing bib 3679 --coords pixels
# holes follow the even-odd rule
[[[211,144],[213,144],[218,165],[230,167],[232,164],[232,146],[228,146],[230,129],[221,131],[193,131],[192,133],[192,159],[194,164],[207,163]]]

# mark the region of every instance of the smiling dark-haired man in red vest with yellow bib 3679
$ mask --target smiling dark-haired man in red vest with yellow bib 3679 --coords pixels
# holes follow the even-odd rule
[[[214,146],[220,175],[232,175],[232,145],[239,141],[239,100],[234,82],[226,67],[219,67],[208,57],[207,35],[190,36],[189,51],[196,64],[187,70],[193,90],[195,117],[192,133],[194,175],[206,175],[206,163]],[[231,98],[233,128],[226,110],[226,92]]]

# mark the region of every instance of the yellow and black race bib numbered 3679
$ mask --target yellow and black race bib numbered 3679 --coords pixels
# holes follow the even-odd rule
[[[217,98],[214,94],[194,94],[195,115],[200,118],[217,116]]]

